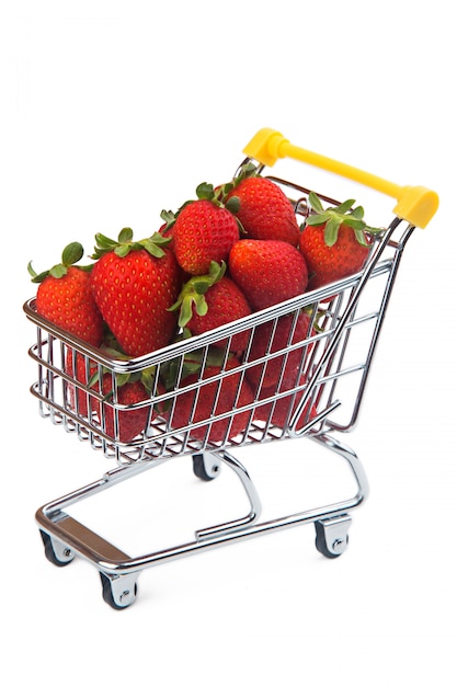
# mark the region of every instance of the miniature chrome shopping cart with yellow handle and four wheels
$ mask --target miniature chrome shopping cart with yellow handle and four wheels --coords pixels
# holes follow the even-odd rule
[[[89,561],[100,572],[104,601],[115,609],[129,606],[137,595],[137,579],[146,568],[172,561],[181,556],[224,546],[237,539],[267,534],[301,524],[313,524],[316,547],[328,558],[338,558],[347,546],[351,513],[368,493],[367,480],[355,453],[340,442],[338,435],[351,431],[356,423],[366,387],[370,363],[385,319],[386,308],[396,281],[404,245],[415,227],[425,227],[437,209],[437,196],[422,186],[398,186],[378,176],[342,164],[329,158],[293,146],[281,134],[261,129],[244,149],[247,159],[264,175],[278,159],[289,158],[321,168],[327,172],[368,186],[397,199],[391,224],[376,238],[363,271],[317,290],[308,291],[230,324],[197,336],[185,338],[149,355],[134,359],[113,359],[100,350],[52,325],[36,312],[35,299],[24,305],[26,317],[36,325],[37,340],[30,355],[37,364],[37,380],[31,391],[39,401],[41,414],[81,442],[113,460],[113,468],[102,478],[59,498],[36,513],[46,557],[57,565],[68,564],[75,557]],[[306,169],[306,167],[300,167]],[[306,175],[306,174],[305,174]],[[299,224],[311,211],[310,190],[285,179],[269,175],[290,198]],[[339,202],[313,192],[331,205]],[[312,322],[309,334],[294,338],[294,327],[300,312],[306,311]],[[266,347],[259,358],[250,358],[250,342],[260,327],[270,327],[272,340],[278,322],[289,318],[287,343],[277,348]],[[230,341],[248,332],[249,342],[239,365],[228,364]],[[212,352],[218,347],[220,370],[205,377]],[[83,382],[76,368],[67,364],[68,355],[83,358],[87,368],[99,369],[112,376],[113,393],[103,397],[96,387]],[[259,381],[249,402],[242,400],[241,385],[250,369],[256,366],[259,379],[267,365],[276,359],[286,368],[290,355],[299,356],[298,374],[293,387],[283,387],[281,374],[269,392]],[[199,361],[199,374],[192,384],[185,382],[184,369],[188,359]],[[117,382],[125,374],[153,369],[150,398],[136,405],[117,401]],[[172,374],[173,384],[162,387],[163,373]],[[230,409],[218,413],[217,398],[225,392],[224,384],[236,375],[239,391]],[[89,376],[89,375],[88,375]],[[188,381],[188,379],[187,379]],[[214,405],[205,420],[198,420],[195,408],[198,395],[212,384]],[[85,402],[78,402],[79,393]],[[174,410],[183,393],[193,393],[186,422],[174,422]],[[123,413],[144,410],[144,428],[128,443],[119,439]],[[281,408],[281,421],[277,420]],[[114,418],[114,431],[107,430],[106,418]],[[243,428],[237,435],[230,431],[242,414]],[[217,441],[213,426],[225,427]],[[301,438],[312,439],[345,460],[355,494],[332,505],[313,507],[264,521],[261,499],[244,465],[236,457],[238,448],[259,446]],[[242,450],[241,450],[242,451]],[[160,548],[139,557],[130,557],[106,538],[69,514],[75,503],[140,475],[151,467],[178,457],[192,458],[196,477],[210,481],[220,473],[220,467],[232,470],[241,482],[249,501],[248,513],[228,522],[212,523],[195,531],[186,542]],[[306,456],[304,455],[304,459]],[[231,473],[231,471],[229,471]],[[235,479],[238,483],[238,480]],[[243,495],[244,496],[244,495]]]

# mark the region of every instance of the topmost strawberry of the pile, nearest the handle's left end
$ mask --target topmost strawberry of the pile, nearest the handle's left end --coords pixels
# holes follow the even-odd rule
[[[227,193],[227,199],[239,201],[235,214],[244,229],[243,237],[298,245],[300,230],[293,204],[276,183],[256,175],[254,169],[248,164]]]

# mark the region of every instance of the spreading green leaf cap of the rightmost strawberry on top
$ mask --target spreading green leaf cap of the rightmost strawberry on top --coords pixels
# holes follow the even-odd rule
[[[307,217],[305,226],[325,225],[323,237],[329,248],[335,244],[339,229],[343,224],[354,229],[357,242],[366,248],[369,247],[367,236],[376,236],[384,230],[367,226],[364,220],[364,208],[359,205],[353,207],[355,203],[354,199],[345,201],[336,207],[324,208],[318,195],[311,192],[308,196],[308,203],[312,209],[312,214]]]

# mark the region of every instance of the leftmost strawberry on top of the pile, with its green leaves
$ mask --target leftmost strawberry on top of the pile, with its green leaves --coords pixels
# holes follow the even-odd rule
[[[60,264],[36,274],[30,262],[28,273],[32,282],[39,284],[38,315],[96,347],[102,342],[104,322],[91,291],[90,267],[76,265],[82,254],[81,243],[70,243],[61,254]]]

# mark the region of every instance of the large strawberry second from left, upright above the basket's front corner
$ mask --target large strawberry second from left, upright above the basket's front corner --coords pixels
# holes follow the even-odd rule
[[[156,232],[134,241],[132,229],[123,229],[117,241],[98,233],[96,242],[91,288],[124,353],[136,357],[169,344],[181,274],[168,239]]]

